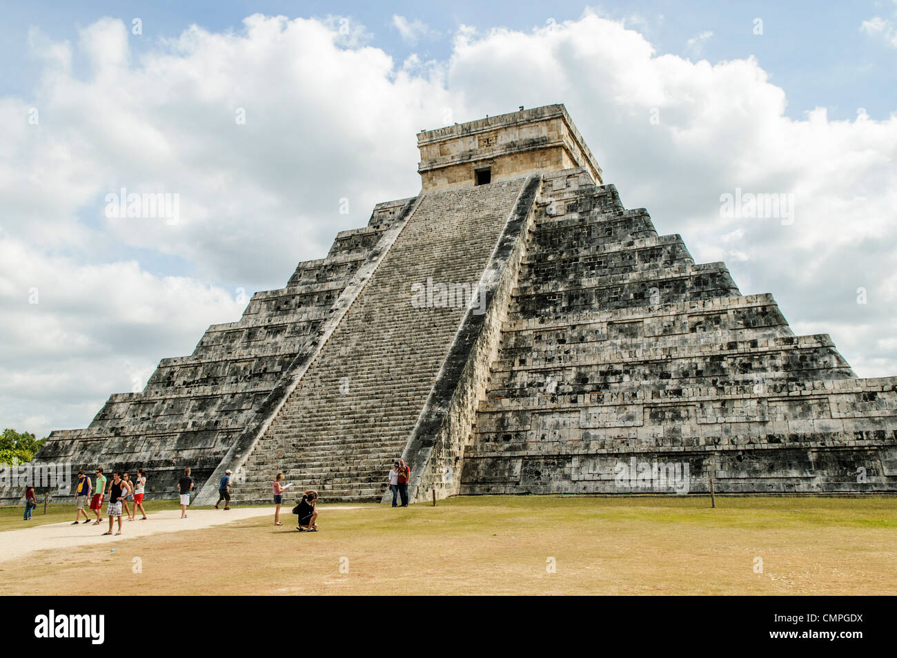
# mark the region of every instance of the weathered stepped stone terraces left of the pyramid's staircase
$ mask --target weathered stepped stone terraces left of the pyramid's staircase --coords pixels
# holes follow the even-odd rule
[[[148,469],[148,496],[175,492],[180,469],[208,478],[270,406],[278,382],[318,347],[321,326],[408,199],[379,204],[367,227],[337,235],[327,258],[301,262],[287,287],[252,296],[237,322],[212,325],[192,355],[162,359],[140,393],[118,393],[86,429],[50,434],[39,461],[74,470]],[[21,491],[0,487],[0,502]]]

